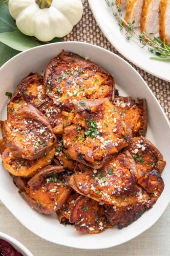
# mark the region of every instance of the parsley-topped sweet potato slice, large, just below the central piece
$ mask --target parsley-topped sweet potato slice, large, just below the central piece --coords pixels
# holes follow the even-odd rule
[[[69,178],[70,186],[79,194],[96,201],[126,206],[134,202],[137,193],[132,173],[136,172],[135,163],[130,155],[120,153],[100,170],[83,170]],[[85,168],[87,169],[87,168]]]

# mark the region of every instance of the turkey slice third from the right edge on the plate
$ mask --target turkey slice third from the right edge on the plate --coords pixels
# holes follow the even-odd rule
[[[127,0],[125,20],[130,23],[134,20],[133,26],[135,27],[140,26],[143,3],[144,0]]]

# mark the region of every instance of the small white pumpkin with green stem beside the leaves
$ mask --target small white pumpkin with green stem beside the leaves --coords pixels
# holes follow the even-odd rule
[[[23,34],[47,42],[71,32],[83,5],[82,0],[9,0],[9,12]]]

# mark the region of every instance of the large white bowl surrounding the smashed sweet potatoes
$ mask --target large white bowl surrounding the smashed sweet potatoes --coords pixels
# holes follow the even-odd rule
[[[165,189],[158,202],[148,212],[125,229],[106,230],[100,234],[81,234],[72,226],[64,227],[56,215],[45,216],[32,209],[18,194],[8,172],[0,163],[0,200],[29,230],[42,238],[61,245],[82,249],[103,249],[127,242],[151,227],[161,216],[170,201],[170,126],[168,120],[140,75],[122,58],[97,46],[80,42],[49,44],[13,57],[0,68],[0,119],[6,116],[5,92],[14,92],[21,78],[30,72],[41,72],[49,60],[62,50],[72,51],[103,66],[116,80],[121,95],[146,98],[149,108],[147,137],[158,147],[168,161],[163,172]]]

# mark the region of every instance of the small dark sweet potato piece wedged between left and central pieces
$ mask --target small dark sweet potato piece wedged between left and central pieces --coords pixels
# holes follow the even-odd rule
[[[38,109],[48,118],[53,132],[56,134],[63,133],[63,119],[61,109],[51,100],[47,98]]]

